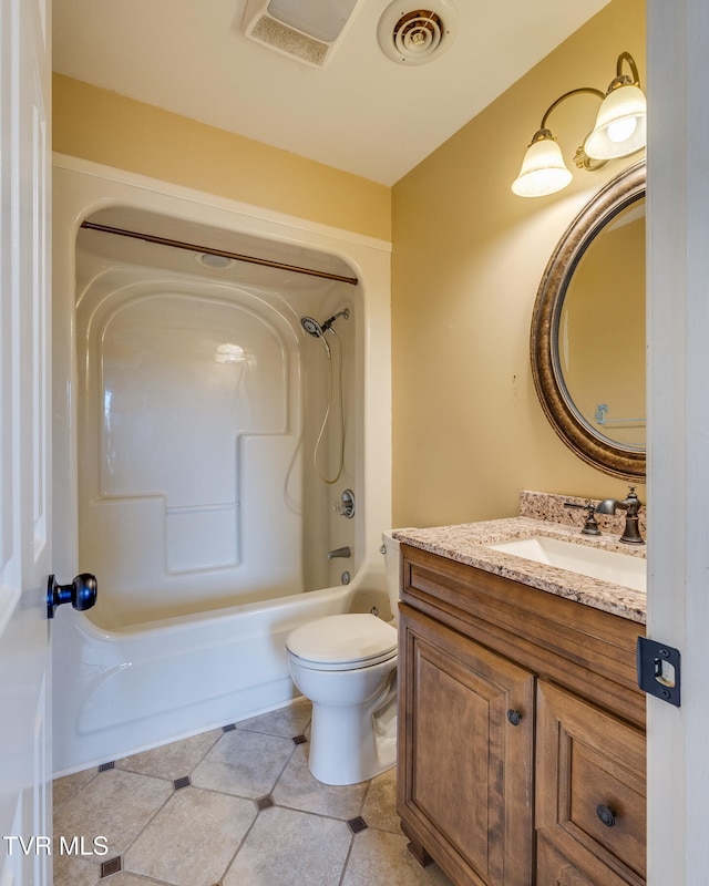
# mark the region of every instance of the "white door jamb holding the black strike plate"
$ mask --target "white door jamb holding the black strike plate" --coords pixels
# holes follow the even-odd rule
[[[648,700],[648,886],[709,882],[709,4],[648,0],[648,635],[681,707]]]

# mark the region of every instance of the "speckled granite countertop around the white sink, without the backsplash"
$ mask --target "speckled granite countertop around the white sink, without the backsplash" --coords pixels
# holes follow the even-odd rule
[[[578,573],[535,563],[514,554],[493,550],[487,545],[515,538],[547,536],[564,542],[614,550],[631,557],[646,557],[645,545],[620,544],[617,535],[585,536],[577,525],[521,516],[428,529],[397,529],[394,538],[442,557],[511,578],[524,585],[603,609],[621,618],[645,624],[646,595]]]

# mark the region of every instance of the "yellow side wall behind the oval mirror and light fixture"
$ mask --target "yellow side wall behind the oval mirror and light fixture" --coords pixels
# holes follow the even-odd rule
[[[577,172],[549,197],[510,186],[546,107],[576,86],[605,91],[626,50],[644,84],[644,0],[614,0],[393,188],[397,526],[511,516],[522,488],[624,497],[624,481],[582,462],[546,421],[528,339],[558,238],[638,155]],[[583,95],[548,120],[569,165],[597,109]]]

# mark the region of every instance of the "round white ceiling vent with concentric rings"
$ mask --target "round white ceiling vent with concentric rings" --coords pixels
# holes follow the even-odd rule
[[[424,8],[397,2],[387,7],[377,29],[384,54],[399,64],[428,64],[442,55],[458,32],[458,10],[451,0],[432,0]]]

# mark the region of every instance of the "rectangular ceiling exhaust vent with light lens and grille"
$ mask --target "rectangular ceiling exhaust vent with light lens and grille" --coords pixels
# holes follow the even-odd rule
[[[261,45],[323,68],[361,0],[248,0],[242,30]]]

